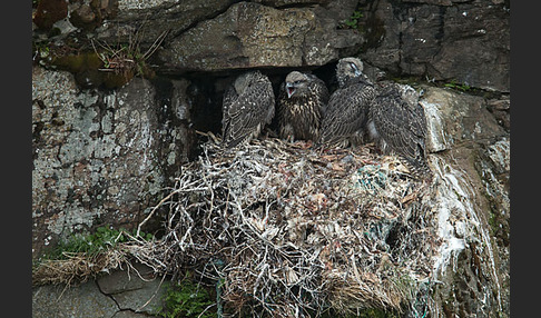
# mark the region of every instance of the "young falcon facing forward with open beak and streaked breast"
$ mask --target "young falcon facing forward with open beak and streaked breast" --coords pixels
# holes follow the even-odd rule
[[[293,74],[294,72],[289,73]],[[295,72],[306,89],[287,97],[286,82],[278,92],[278,132],[283,139],[313,140],[319,137],[322,112],[328,101],[328,90],[321,79],[313,74]]]

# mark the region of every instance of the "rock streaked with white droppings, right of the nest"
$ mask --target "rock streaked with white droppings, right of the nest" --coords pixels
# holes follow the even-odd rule
[[[509,132],[485,98],[424,87],[429,160],[435,171],[439,261],[431,312],[509,312]],[[504,102],[505,99],[502,100]],[[479,301],[483,299],[483,301]]]

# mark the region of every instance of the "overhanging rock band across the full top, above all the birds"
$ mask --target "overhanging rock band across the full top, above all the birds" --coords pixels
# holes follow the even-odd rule
[[[97,39],[111,50],[129,47],[140,56],[157,49],[146,62],[170,74],[316,68],[361,54],[391,76],[510,91],[510,9],[504,0],[72,2],[62,9],[65,19],[38,6],[35,39],[82,50]],[[345,23],[358,13],[356,26]],[[56,21],[60,34],[45,33],[46,20]]]

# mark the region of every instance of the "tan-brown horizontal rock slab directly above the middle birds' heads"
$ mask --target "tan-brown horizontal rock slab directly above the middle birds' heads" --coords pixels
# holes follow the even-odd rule
[[[333,14],[239,2],[169,41],[159,57],[169,72],[323,66],[362,41],[356,30],[337,30]]]

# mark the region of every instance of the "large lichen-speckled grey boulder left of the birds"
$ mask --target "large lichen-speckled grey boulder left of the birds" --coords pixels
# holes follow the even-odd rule
[[[78,90],[71,73],[33,69],[33,257],[73,232],[145,218],[188,160],[187,86],[135,78]]]

